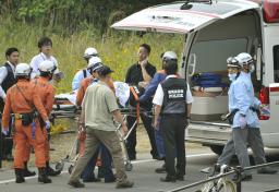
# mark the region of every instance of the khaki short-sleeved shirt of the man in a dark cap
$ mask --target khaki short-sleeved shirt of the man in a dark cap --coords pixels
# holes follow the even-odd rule
[[[82,108],[85,110],[86,128],[116,131],[112,111],[119,107],[113,92],[106,83],[99,81],[88,86]]]

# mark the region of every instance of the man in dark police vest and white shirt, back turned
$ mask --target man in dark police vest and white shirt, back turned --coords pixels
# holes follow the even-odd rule
[[[155,104],[154,127],[157,128],[158,117],[161,117],[167,177],[162,182],[175,182],[184,180],[185,175],[185,127],[189,123],[193,97],[187,83],[179,79],[178,61],[168,60],[163,64],[168,75],[158,86],[153,103]],[[177,156],[177,169],[174,159]]]

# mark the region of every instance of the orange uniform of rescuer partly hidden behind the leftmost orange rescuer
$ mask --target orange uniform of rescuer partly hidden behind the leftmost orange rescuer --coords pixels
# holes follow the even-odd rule
[[[32,84],[34,85],[36,92],[39,95],[39,98],[47,111],[48,117],[50,116],[50,112],[52,111],[53,103],[54,103],[54,95],[56,95],[56,89],[53,85],[51,85],[48,82],[47,77],[36,77],[32,81]],[[47,130],[43,129],[44,135],[47,137]],[[46,161],[49,161],[49,141],[46,140],[45,143],[45,151],[46,151]],[[29,160],[29,154],[31,154],[31,147],[26,147],[26,153],[24,157],[24,161]]]

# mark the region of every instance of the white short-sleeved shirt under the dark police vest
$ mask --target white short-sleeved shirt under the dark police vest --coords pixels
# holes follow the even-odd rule
[[[166,80],[169,79],[169,77],[177,77],[177,75],[168,75],[166,77]],[[186,104],[192,104],[194,101],[189,84],[187,84],[187,92],[186,92],[186,100],[185,101],[186,101]],[[157,89],[156,89],[155,96],[153,98],[153,104],[158,105],[158,106],[162,106],[162,103],[163,103],[163,91],[162,91],[161,84],[159,84]]]

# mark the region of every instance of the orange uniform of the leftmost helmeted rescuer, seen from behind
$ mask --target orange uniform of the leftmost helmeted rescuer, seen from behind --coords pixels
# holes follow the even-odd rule
[[[9,127],[10,115],[13,112],[15,116],[15,132],[14,132],[14,168],[24,168],[24,154],[26,143],[33,145],[35,149],[36,166],[38,168],[46,167],[45,158],[45,141],[38,118],[35,118],[35,137],[33,136],[32,124],[23,125],[22,115],[34,111],[34,107],[39,112],[44,121],[48,121],[48,115],[44,108],[38,93],[27,80],[19,80],[7,93],[7,100],[2,117],[3,128]]]

